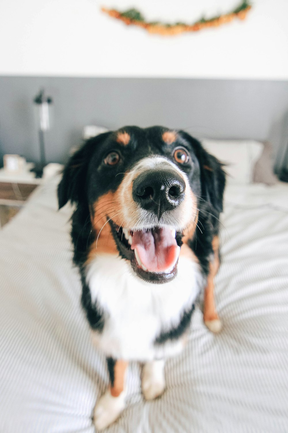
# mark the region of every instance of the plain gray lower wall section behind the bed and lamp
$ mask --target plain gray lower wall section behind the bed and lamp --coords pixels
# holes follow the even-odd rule
[[[160,124],[198,137],[270,139],[283,163],[288,81],[0,77],[0,153],[39,159],[32,99],[41,87],[54,100],[49,162],[66,160],[84,125]]]

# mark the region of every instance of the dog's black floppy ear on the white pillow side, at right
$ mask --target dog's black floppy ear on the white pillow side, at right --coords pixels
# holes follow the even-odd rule
[[[225,171],[222,164],[215,156],[210,155],[202,144],[191,137],[187,132],[181,131],[181,135],[192,145],[200,165],[202,198],[221,213],[223,210],[223,194],[225,189]]]

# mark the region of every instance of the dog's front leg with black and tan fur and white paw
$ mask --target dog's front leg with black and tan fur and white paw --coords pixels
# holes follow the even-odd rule
[[[107,364],[111,385],[95,406],[94,423],[97,430],[113,423],[125,407],[128,362],[108,358]]]

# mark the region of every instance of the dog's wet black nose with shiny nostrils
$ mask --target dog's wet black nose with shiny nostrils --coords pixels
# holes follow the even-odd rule
[[[134,180],[132,195],[160,220],[166,210],[175,209],[184,200],[185,182],[174,170],[148,170]]]

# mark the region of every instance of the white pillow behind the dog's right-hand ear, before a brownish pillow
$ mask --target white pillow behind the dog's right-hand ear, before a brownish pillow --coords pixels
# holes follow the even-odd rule
[[[250,184],[256,161],[263,152],[263,143],[255,140],[200,140],[204,148],[226,164],[227,182]]]

